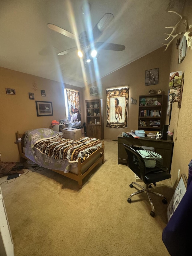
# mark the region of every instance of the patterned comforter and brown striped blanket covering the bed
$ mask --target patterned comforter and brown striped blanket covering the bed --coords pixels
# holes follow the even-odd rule
[[[70,140],[62,133],[42,128],[29,133],[25,156],[40,166],[67,173],[77,167],[79,157],[83,162],[101,147],[101,141],[95,138]]]

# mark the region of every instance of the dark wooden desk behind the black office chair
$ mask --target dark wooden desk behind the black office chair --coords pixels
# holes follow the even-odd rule
[[[149,137],[140,137],[139,139],[124,138],[121,134],[119,134],[117,140],[118,164],[127,164],[127,153],[125,151],[123,143],[127,144],[128,146],[138,145],[153,147],[154,152],[157,152],[159,155],[163,157],[164,167],[167,167],[170,173],[174,146],[174,142],[173,140],[171,140],[170,136],[167,137],[167,140],[157,140],[156,138]]]

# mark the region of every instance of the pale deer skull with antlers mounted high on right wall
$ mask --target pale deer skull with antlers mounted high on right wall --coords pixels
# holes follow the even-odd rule
[[[170,42],[168,44],[164,44],[166,45],[166,49],[164,50],[164,52],[167,50],[167,48],[170,46],[171,42],[178,36],[178,35],[184,35],[187,39],[187,46],[192,50],[192,25],[189,25],[189,27],[187,26],[187,20],[186,18],[184,18],[180,13],[176,12],[176,11],[168,11],[168,12],[172,12],[175,13],[177,15],[180,16],[180,20],[178,21],[178,23],[175,26],[171,26],[171,27],[165,27],[165,29],[173,29],[172,32],[170,34],[164,33],[165,35],[169,35],[168,38],[166,38],[165,40],[169,39],[170,37],[172,37],[172,39],[170,40]],[[178,26],[180,26],[181,24],[184,25],[185,30],[182,32],[176,32]]]

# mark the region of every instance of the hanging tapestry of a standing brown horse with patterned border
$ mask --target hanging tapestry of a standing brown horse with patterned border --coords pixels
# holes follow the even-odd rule
[[[109,128],[127,128],[129,88],[106,89],[107,122]]]

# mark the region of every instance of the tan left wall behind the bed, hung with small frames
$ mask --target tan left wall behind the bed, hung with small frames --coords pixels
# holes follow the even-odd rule
[[[36,91],[33,90],[34,81],[38,88]],[[65,87],[79,90],[82,94],[82,88]],[[15,89],[16,95],[6,94],[5,88]],[[65,118],[63,88],[62,83],[0,67],[1,161],[19,161],[14,143],[16,131],[23,133],[33,128],[49,128],[52,120]],[[41,90],[45,90],[46,97],[41,96]],[[29,92],[34,93],[35,100],[29,99]],[[53,116],[37,116],[35,101],[52,101]]]

